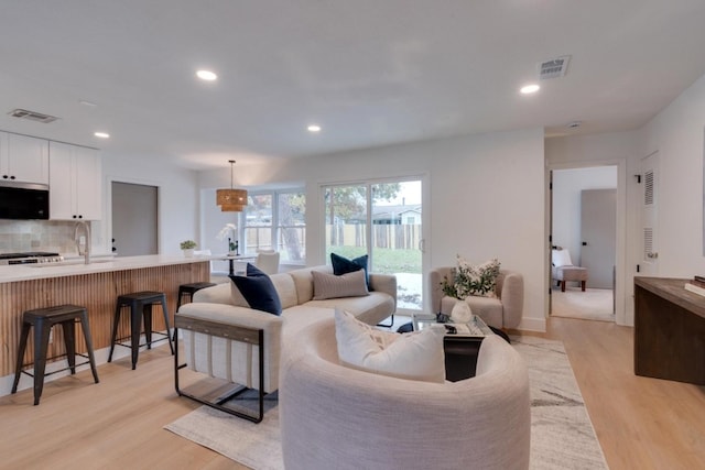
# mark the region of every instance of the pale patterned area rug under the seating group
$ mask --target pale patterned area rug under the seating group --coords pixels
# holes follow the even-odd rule
[[[606,469],[571,363],[560,341],[512,337],[531,383],[531,469]],[[279,409],[260,424],[202,406],[165,426],[256,470],[281,470]]]

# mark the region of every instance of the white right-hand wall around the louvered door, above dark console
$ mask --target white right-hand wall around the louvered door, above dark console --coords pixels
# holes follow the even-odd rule
[[[626,171],[618,177],[623,187],[618,205],[623,215],[623,318],[633,325],[633,276],[641,263],[641,192],[634,175],[641,174],[641,160],[658,152],[658,272],[661,277],[692,277],[705,273],[703,256],[703,153],[705,132],[705,76],[696,80],[673,102],[637,131],[550,139],[546,164],[552,168],[589,166],[623,162]],[[618,207],[618,219],[619,219]],[[620,249],[621,243],[621,249]],[[619,304],[618,304],[619,305]]]

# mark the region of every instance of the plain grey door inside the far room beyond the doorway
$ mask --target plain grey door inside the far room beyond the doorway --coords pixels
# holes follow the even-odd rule
[[[614,288],[616,233],[617,189],[584,189],[581,194],[581,265],[587,267],[589,288]]]

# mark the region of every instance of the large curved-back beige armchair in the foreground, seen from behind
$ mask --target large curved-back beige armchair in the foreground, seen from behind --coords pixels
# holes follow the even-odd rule
[[[335,321],[284,346],[282,450],[297,469],[529,468],[529,376],[499,336],[485,338],[476,376],[432,383],[341,365]]]

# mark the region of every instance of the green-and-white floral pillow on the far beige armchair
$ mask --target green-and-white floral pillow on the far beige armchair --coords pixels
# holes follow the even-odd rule
[[[445,276],[441,282],[443,293],[455,298],[466,298],[470,295],[494,297],[499,276],[499,261],[492,259],[475,266],[459,254],[457,260],[457,267],[451,270],[451,278]]]

